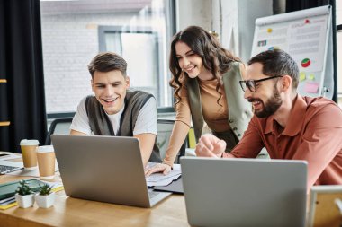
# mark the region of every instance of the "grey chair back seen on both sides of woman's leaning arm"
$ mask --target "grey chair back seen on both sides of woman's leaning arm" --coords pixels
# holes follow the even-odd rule
[[[166,148],[170,142],[170,135],[172,133],[172,129],[174,127],[175,120],[170,119],[157,119],[157,146],[160,151],[160,157],[163,160],[166,155]],[[179,159],[181,156],[185,154],[185,148],[188,144],[188,136],[184,140],[177,157],[175,158],[175,163],[179,163]]]

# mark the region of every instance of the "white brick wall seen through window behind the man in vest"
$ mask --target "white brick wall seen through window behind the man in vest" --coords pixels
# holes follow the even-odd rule
[[[123,25],[131,16],[129,13],[42,15],[47,112],[75,111],[78,101],[92,92],[86,65],[99,51],[97,25]]]

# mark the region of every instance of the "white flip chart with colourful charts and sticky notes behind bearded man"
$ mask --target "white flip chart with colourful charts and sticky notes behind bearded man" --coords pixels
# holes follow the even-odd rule
[[[334,68],[332,58],[331,6],[283,13],[256,20],[252,57],[279,48],[296,61],[302,96],[332,99]]]

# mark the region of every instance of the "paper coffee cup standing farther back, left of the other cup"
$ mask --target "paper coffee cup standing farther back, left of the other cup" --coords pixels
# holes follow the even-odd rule
[[[37,154],[36,149],[40,143],[38,140],[28,140],[23,139],[20,142],[20,146],[22,148],[23,154],[23,167],[26,170],[35,170],[37,169]]]

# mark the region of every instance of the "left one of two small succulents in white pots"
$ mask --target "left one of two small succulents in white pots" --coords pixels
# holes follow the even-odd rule
[[[34,193],[25,180],[19,181],[19,187],[15,192],[15,200],[20,207],[27,208],[34,204]]]

